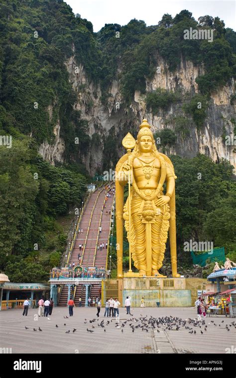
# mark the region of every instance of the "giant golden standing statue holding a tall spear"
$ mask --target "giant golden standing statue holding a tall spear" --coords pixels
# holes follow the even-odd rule
[[[172,275],[180,277],[176,258],[174,167],[166,155],[157,151],[146,119],[139,128],[136,141],[130,133],[124,137],[122,145],[127,153],[116,166],[118,277],[123,277],[123,219],[129,242],[129,271],[125,277],[164,277],[158,271],[164,259],[168,230]],[[127,183],[129,193],[124,204]],[[131,258],[138,274],[131,270]]]

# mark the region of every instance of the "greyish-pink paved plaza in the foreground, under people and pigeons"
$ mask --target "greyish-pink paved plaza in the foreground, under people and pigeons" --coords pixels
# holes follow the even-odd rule
[[[120,323],[130,319],[124,308],[120,310]],[[131,308],[136,319],[142,316],[149,318],[162,316],[178,316],[182,319],[196,318],[196,308]],[[69,317],[67,307],[55,307],[53,313],[46,317],[38,317],[37,309],[29,309],[28,316],[22,316],[21,309],[0,311],[0,347],[11,348],[12,353],[226,353],[226,348],[236,345],[236,329],[230,324],[235,319],[225,316],[207,317],[207,331],[202,326],[193,327],[196,334],[180,327],[176,331],[165,326],[142,331],[132,328],[138,322],[129,321],[124,327],[116,327],[114,318],[103,317],[101,309],[99,321],[95,308],[75,308],[74,316]],[[68,316],[65,319],[64,316]],[[89,320],[96,321],[90,323]],[[87,322],[86,320],[87,319]],[[111,320],[113,321],[111,322]],[[105,328],[98,326],[104,320]],[[110,324],[107,325],[107,320]],[[222,321],[224,322],[222,323]],[[214,323],[216,325],[214,325]],[[85,324],[86,322],[86,324]],[[64,323],[66,325],[64,325]],[[210,324],[209,324],[210,323]],[[56,327],[58,325],[58,328]],[[227,331],[226,324],[230,331]],[[119,326],[118,325],[118,326]],[[29,329],[25,329],[25,326]],[[93,327],[94,328],[93,328]],[[38,328],[42,331],[39,331]],[[33,331],[35,328],[37,331]],[[76,331],[73,333],[73,329]],[[94,331],[87,331],[87,328]],[[121,331],[123,329],[123,332]],[[69,333],[66,331],[70,330]],[[106,332],[104,331],[106,330]],[[201,330],[203,334],[201,334]],[[231,352],[232,353],[232,352]]]

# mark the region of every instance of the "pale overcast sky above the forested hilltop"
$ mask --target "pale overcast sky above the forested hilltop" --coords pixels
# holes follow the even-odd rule
[[[173,16],[182,9],[193,13],[195,19],[209,14],[220,17],[226,27],[236,30],[236,2],[228,0],[66,0],[74,13],[87,18],[99,31],[105,23],[127,24],[132,18],[156,25],[164,13]]]

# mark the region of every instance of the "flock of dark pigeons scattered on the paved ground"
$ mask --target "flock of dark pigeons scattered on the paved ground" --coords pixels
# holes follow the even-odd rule
[[[67,316],[64,316],[64,318],[67,318]],[[159,329],[169,330],[169,331],[179,331],[180,329],[187,330],[188,333],[196,335],[198,334],[205,334],[208,331],[208,327],[215,326],[217,327],[217,324],[214,320],[210,320],[208,324],[206,324],[205,319],[181,319],[179,317],[174,316],[163,316],[155,318],[153,316],[150,316],[149,318],[147,316],[142,316],[140,314],[139,318],[131,317],[127,318],[126,320],[120,320],[120,319],[111,319],[111,320],[102,320],[99,322],[99,319],[92,319],[87,320],[84,319],[84,324],[87,324],[86,331],[88,333],[96,332],[98,329],[104,329],[104,332],[107,332],[109,328],[116,328],[117,330],[121,330],[121,333],[125,333],[124,328],[126,327],[131,330],[132,333],[137,331],[144,331],[149,332],[151,330],[157,330],[157,333],[160,333]],[[218,324],[218,327],[224,328],[226,331],[231,331],[231,329],[236,329],[236,322],[233,321],[229,324],[223,324],[224,320],[222,320],[221,324]],[[64,326],[66,326],[66,323],[64,323]],[[90,327],[90,328],[88,328]],[[26,330],[30,329],[28,327],[24,327]],[[56,328],[60,328],[56,324]],[[40,327],[38,327],[39,331],[43,331]],[[77,329],[74,328],[72,330],[72,333],[75,333]],[[37,331],[37,329],[33,328],[33,331]],[[70,329],[68,329],[65,333],[70,333]]]

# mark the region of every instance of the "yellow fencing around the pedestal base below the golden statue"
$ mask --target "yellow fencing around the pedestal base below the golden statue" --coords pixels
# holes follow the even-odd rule
[[[206,289],[206,280],[200,278],[124,278],[102,281],[102,303],[111,296],[124,306],[126,296],[131,297],[132,307],[140,307],[144,298],[146,307],[191,307],[198,297],[198,290]]]

